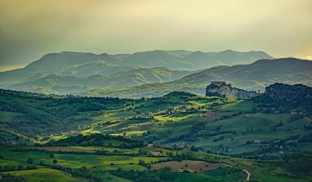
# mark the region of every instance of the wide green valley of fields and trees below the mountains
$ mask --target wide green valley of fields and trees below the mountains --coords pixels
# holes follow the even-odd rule
[[[277,92],[282,86],[267,90]],[[21,175],[30,182],[51,173],[59,176],[53,180],[97,182],[145,181],[149,177],[240,182],[248,173],[252,181],[311,180],[309,104],[301,109],[304,113],[296,115],[287,101],[283,106],[290,109],[266,111],[265,95],[228,99],[171,92],[142,99],[51,99],[27,92],[0,93],[0,139],[6,141],[0,149],[2,173]],[[188,164],[183,160],[189,160]],[[296,173],[298,168],[285,167],[287,163],[308,168]],[[147,173],[160,166],[171,169]]]

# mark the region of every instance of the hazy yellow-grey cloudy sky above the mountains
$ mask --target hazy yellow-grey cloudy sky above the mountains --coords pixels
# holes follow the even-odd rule
[[[65,50],[228,49],[312,59],[312,0],[0,0],[0,71]]]

